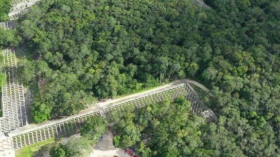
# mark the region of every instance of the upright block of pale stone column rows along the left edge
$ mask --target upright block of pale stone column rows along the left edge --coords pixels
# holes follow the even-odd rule
[[[14,50],[4,49],[4,71],[7,82],[2,87],[2,114],[0,132],[9,132],[26,125],[24,91],[18,78],[18,66]]]

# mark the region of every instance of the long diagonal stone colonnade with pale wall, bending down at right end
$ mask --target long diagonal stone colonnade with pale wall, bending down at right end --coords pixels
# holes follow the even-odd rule
[[[93,115],[109,117],[111,110],[121,111],[128,105],[141,108],[147,104],[160,102],[164,99],[173,100],[177,96],[185,96],[192,102],[193,113],[200,114],[204,110],[207,110],[206,107],[199,103],[198,96],[192,90],[192,87],[187,82],[183,82],[156,91],[148,91],[140,96],[130,97],[118,102],[109,104],[100,103],[98,105],[99,107],[95,107],[94,109],[86,110],[65,119],[39,124],[37,126],[23,127],[9,132],[8,135],[9,137],[12,137],[13,147],[17,149],[52,137],[58,138],[63,135],[77,132],[81,128],[83,122]],[[200,106],[198,104],[200,104]]]

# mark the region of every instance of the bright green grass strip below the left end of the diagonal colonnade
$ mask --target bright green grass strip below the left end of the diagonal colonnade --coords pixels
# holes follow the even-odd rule
[[[46,145],[46,144],[53,144],[55,142],[54,138],[51,138],[49,140],[36,142],[33,144],[30,144],[28,146],[19,148],[16,150],[16,157],[33,157],[34,153],[40,149],[40,147]]]

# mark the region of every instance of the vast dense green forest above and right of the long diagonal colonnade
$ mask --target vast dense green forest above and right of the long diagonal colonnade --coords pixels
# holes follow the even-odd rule
[[[35,122],[192,77],[211,89],[204,101],[219,118],[199,128],[198,148],[277,156],[280,1],[206,2],[212,9],[190,0],[41,0],[8,33],[16,37],[0,42],[22,38],[35,59],[22,65],[23,80],[47,82],[31,107]]]

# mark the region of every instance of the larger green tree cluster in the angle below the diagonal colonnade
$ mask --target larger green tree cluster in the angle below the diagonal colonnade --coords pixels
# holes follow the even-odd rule
[[[136,113],[136,114],[135,114]],[[112,113],[116,147],[137,146],[141,157],[207,157],[219,156],[219,151],[204,146],[205,121],[192,114],[191,103],[184,97],[128,108]],[[203,131],[203,132],[202,132]]]

